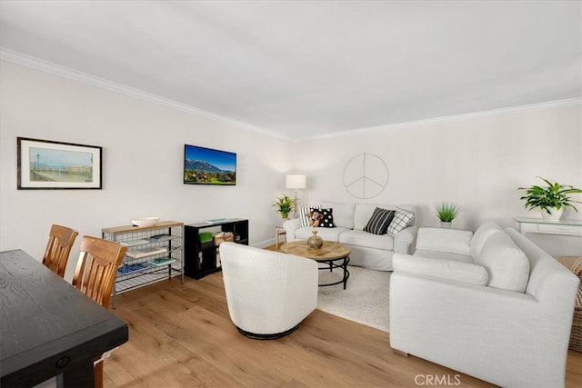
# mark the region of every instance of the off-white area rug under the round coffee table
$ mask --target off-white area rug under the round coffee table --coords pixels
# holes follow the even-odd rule
[[[347,288],[343,284],[319,287],[317,309],[388,332],[390,274],[348,265]],[[341,271],[319,271],[319,283],[332,283]]]

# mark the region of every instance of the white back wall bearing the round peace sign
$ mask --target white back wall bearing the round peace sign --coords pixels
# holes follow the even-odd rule
[[[309,176],[312,200],[416,204],[418,224],[437,226],[434,204],[459,204],[453,227],[472,229],[484,220],[515,226],[513,217],[539,217],[524,208],[517,187],[544,184],[544,176],[582,187],[582,105],[480,114],[425,124],[296,144],[296,170]],[[388,167],[386,189],[358,200],[343,185],[346,163],[357,154],[376,154]],[[582,196],[576,195],[578,200]],[[568,209],[563,218],[582,219]],[[528,234],[550,254],[582,254],[582,239]]]

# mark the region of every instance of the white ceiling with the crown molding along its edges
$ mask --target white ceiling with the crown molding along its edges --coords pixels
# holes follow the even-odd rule
[[[580,1],[7,1],[29,55],[284,138],[576,99]]]

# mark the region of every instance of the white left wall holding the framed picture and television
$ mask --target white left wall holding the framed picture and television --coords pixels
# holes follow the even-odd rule
[[[1,71],[0,251],[41,260],[51,224],[100,236],[149,215],[247,218],[250,244],[273,242],[280,217],[271,204],[293,164],[289,142],[7,61]],[[103,190],[16,190],[18,136],[102,146]],[[235,152],[236,186],[183,184],[184,144]]]

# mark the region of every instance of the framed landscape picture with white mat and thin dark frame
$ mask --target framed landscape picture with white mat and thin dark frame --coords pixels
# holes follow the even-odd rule
[[[16,138],[18,190],[101,189],[101,147]]]

